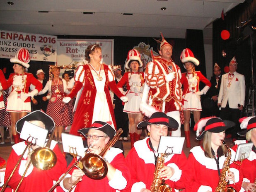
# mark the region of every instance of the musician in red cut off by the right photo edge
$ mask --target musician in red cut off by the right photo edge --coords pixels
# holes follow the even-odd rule
[[[245,140],[237,140],[237,144],[252,142],[254,145],[250,151],[249,157],[242,161],[240,166],[240,173],[242,174],[242,189],[240,192],[256,192],[256,117],[246,117],[239,120],[241,122],[242,131],[238,134],[246,135]],[[237,149],[237,145],[233,147]]]

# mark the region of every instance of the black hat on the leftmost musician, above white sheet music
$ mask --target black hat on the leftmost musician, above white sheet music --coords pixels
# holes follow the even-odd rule
[[[46,113],[44,113],[41,110],[35,110],[35,111],[27,114],[23,118],[19,119],[16,122],[17,132],[21,133],[22,127],[23,127],[25,121],[34,121],[34,120],[38,120],[38,121],[43,122],[43,124],[45,125],[45,128],[49,132],[51,132],[53,130],[53,128],[55,127],[55,123],[49,115],[47,115]]]

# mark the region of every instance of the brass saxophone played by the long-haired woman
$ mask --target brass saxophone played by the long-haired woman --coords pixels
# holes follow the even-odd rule
[[[218,186],[215,188],[215,192],[237,192],[233,187],[227,186],[229,185],[229,181],[226,181],[226,173],[229,173],[231,151],[224,141],[222,141],[222,143],[227,148],[228,155],[223,163],[222,171],[220,174],[220,180]]]

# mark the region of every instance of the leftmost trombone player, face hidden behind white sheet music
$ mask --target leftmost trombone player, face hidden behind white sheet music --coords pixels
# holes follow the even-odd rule
[[[40,110],[36,110],[17,121],[16,130],[18,133],[21,133],[25,121],[47,129],[49,132],[51,132],[53,127],[55,127],[55,123],[50,116],[46,115]],[[5,182],[9,178],[14,166],[17,164],[18,159],[22,155],[22,152],[26,146],[26,141],[19,142],[12,146],[13,149],[6,165]],[[27,168],[27,165],[29,164],[31,152],[36,148],[39,148],[39,146],[31,146],[31,149],[28,149],[25,152],[22,161],[19,163],[17,170],[14,172],[8,184],[12,189],[16,189],[25,169]],[[57,156],[55,166],[49,170],[40,170],[39,168],[36,168],[30,164],[24,180],[19,187],[19,192],[47,192],[54,184],[54,181],[58,180],[60,175],[65,171],[67,164],[56,141],[51,141],[50,149],[52,149]]]

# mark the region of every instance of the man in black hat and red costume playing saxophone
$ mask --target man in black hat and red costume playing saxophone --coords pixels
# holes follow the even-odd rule
[[[131,192],[150,192],[151,184],[155,178],[155,165],[157,162],[157,149],[161,136],[167,136],[168,129],[177,129],[178,122],[165,113],[153,113],[148,122],[140,122],[138,127],[147,127],[150,137],[134,143],[129,151],[126,161],[132,177]],[[187,158],[181,154],[171,154],[164,157],[164,166],[157,173],[165,183],[174,189],[185,188],[190,183],[188,175]]]

